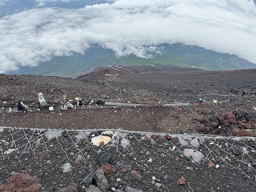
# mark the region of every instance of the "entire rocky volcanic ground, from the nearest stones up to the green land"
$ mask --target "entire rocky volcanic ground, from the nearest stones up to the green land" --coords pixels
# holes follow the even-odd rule
[[[159,65],[74,78],[1,74],[0,191],[255,191],[255,73]],[[24,115],[15,107],[20,97]],[[61,109],[76,97],[83,110]],[[47,138],[50,129],[62,131]],[[92,144],[105,130],[111,142]]]

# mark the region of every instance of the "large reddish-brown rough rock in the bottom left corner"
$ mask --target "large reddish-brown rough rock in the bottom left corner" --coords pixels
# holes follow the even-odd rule
[[[34,176],[31,177],[28,174],[24,173],[14,173],[8,180],[7,183],[0,186],[1,192],[39,192],[42,189],[42,186],[39,182],[39,179]]]

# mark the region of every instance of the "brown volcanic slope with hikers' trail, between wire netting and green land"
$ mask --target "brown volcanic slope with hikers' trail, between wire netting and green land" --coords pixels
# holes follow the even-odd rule
[[[191,132],[202,118],[208,119],[213,115],[231,113],[237,109],[255,115],[255,74],[256,69],[203,71],[168,65],[109,66],[72,78],[2,74],[1,124],[27,128]],[[246,93],[242,94],[244,91]],[[36,110],[39,92],[43,93],[47,103],[41,107],[41,111]],[[83,98],[86,103],[84,110],[61,110],[65,94],[74,105],[74,98]],[[9,113],[9,107],[15,110],[19,98],[29,106],[27,115]],[[206,102],[199,106],[199,98]],[[235,100],[228,101],[231,98]],[[213,99],[218,100],[217,106],[212,105]],[[95,102],[88,105],[91,100]],[[147,106],[116,108],[105,106],[105,101]],[[182,108],[164,107],[168,103],[189,105]],[[50,112],[48,108],[52,106],[55,110]],[[60,113],[61,118],[57,115]],[[45,118],[49,121],[45,121]],[[253,135],[254,130],[250,134]]]

